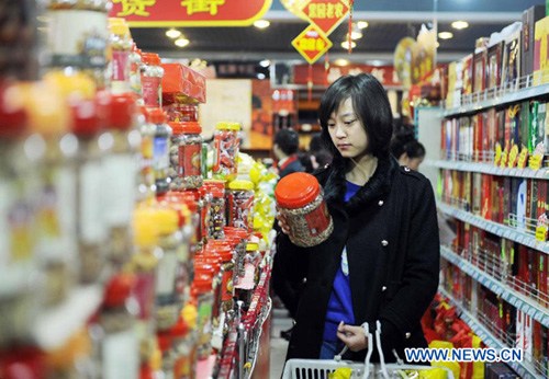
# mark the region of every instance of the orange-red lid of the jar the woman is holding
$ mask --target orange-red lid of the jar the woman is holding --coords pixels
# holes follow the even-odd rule
[[[282,177],[274,188],[278,205],[289,209],[303,207],[320,193],[321,186],[316,177],[305,172],[294,172]]]

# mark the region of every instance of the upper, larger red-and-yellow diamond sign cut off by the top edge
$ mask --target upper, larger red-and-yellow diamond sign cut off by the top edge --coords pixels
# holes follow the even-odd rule
[[[310,0],[302,12],[311,24],[329,35],[349,13],[349,7],[343,0]]]

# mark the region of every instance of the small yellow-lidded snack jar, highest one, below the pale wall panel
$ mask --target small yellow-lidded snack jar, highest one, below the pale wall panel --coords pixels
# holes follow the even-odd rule
[[[214,162],[212,168],[213,177],[232,181],[236,179],[240,138],[238,123],[217,123],[213,134]]]

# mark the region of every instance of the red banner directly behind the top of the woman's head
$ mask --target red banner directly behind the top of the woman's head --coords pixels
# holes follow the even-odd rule
[[[402,83],[396,77],[393,66],[370,66],[370,65],[349,65],[330,66],[328,71],[324,65],[313,65],[313,84],[328,85],[337,78],[344,74],[357,74],[360,72],[371,73],[384,87],[401,87]],[[295,65],[293,67],[293,81],[295,84],[306,84],[309,78],[309,65]]]

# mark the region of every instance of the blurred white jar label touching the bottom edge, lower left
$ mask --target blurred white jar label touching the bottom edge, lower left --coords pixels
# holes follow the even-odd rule
[[[135,331],[108,333],[103,341],[102,367],[104,379],[139,377],[139,348]]]

